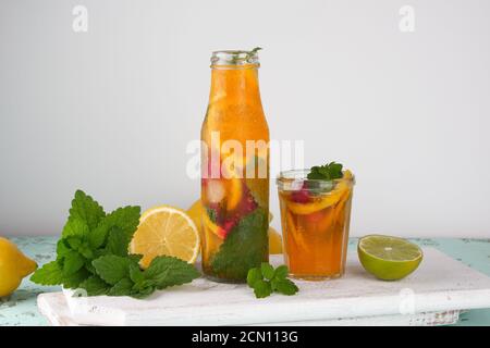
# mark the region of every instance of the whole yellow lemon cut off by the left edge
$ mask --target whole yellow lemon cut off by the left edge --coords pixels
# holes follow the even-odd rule
[[[16,245],[0,237],[0,297],[15,291],[22,278],[33,273],[36,268],[37,263],[22,253]]]

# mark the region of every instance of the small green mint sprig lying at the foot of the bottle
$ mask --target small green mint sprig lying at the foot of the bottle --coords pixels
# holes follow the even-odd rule
[[[247,284],[254,289],[256,298],[265,298],[272,293],[283,295],[294,295],[299,289],[292,281],[287,278],[287,266],[280,265],[274,270],[272,265],[262,262],[260,268],[254,268],[248,271]]]

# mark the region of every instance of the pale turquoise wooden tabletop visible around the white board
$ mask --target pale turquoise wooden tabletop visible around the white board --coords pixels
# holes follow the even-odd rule
[[[39,265],[53,260],[56,237],[22,237],[12,240]],[[420,246],[432,246],[470,268],[490,275],[490,239],[414,239]],[[350,240],[350,248],[356,240]],[[10,298],[0,299],[0,326],[48,325],[38,312],[36,297],[41,293],[59,291],[59,287],[37,286],[24,279]],[[461,315],[457,325],[490,325],[490,309],[471,310]]]

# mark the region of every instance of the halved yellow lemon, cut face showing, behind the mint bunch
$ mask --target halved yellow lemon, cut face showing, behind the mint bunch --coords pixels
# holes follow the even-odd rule
[[[143,213],[130,252],[143,254],[140,265],[146,269],[158,256],[194,263],[199,246],[199,232],[193,220],[179,208],[161,206]]]

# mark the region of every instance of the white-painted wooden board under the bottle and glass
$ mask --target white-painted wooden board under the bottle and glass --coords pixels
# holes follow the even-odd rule
[[[490,277],[433,248],[402,281],[373,278],[353,251],[344,277],[296,284],[295,296],[256,299],[246,285],[199,278],[146,300],[41,294],[38,307],[53,325],[438,325],[454,323],[461,310],[490,308]]]

